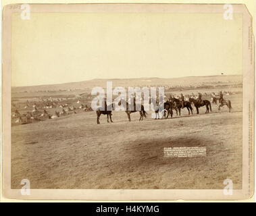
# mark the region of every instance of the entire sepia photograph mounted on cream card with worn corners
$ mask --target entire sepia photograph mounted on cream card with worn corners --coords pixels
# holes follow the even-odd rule
[[[242,4],[6,5],[3,196],[251,198],[254,21]]]

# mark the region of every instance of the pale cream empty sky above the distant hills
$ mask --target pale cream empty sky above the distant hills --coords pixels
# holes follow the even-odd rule
[[[242,14],[13,14],[12,86],[242,74]]]

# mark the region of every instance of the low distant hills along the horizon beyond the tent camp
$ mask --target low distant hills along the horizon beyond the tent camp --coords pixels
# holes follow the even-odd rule
[[[202,86],[217,84],[242,84],[242,75],[221,75],[221,76],[188,76],[183,78],[128,78],[128,79],[94,79],[81,82],[69,82],[63,84],[50,84],[40,86],[18,86],[12,87],[12,92],[45,92],[45,91],[91,91],[95,86],[106,87],[106,82],[112,81],[116,86]]]

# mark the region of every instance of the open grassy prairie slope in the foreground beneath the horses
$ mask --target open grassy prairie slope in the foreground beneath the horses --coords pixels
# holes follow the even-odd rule
[[[11,188],[224,188],[242,186],[242,94],[224,96],[232,112],[132,121],[113,111],[113,123],[94,111],[11,128]],[[194,108],[194,107],[193,107]],[[194,108],[195,111],[195,108]],[[163,148],[205,146],[206,157],[163,157]]]

